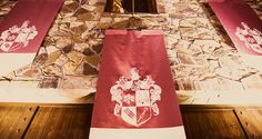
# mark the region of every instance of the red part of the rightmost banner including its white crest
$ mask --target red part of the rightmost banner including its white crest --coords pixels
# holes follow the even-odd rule
[[[262,56],[262,21],[243,0],[209,0],[222,26],[241,52]]]

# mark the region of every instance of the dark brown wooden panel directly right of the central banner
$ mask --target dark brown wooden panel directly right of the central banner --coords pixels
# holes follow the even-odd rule
[[[182,109],[188,139],[245,139],[233,109]]]

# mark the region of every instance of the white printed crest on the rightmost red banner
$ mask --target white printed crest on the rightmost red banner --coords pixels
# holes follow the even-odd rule
[[[262,53],[262,33],[258,29],[250,29],[250,27],[241,22],[242,28],[238,27],[235,36],[241,40],[244,41],[244,44],[250,50]]]

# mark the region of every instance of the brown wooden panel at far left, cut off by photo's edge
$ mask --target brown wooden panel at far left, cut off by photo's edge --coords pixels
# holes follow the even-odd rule
[[[0,106],[0,139],[21,138],[37,106]]]

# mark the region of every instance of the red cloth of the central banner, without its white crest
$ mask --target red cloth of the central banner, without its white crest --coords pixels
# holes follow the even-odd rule
[[[139,70],[140,80],[145,79],[145,76],[151,76],[152,80],[155,81],[154,83],[162,89],[161,100],[155,101],[159,115],[152,116],[147,122],[137,126],[128,123],[121,116],[114,115],[117,102],[112,101],[111,96],[111,89],[119,78],[124,76],[127,80],[130,80],[130,70],[134,67]],[[128,93],[134,95],[130,90],[123,92],[123,95]],[[123,106],[135,106],[135,103],[138,103],[137,100],[130,103],[125,101]],[[122,111],[124,110],[122,109]],[[129,111],[129,116],[135,117],[135,113]],[[143,107],[137,108],[137,121],[147,120],[149,115],[150,108],[148,111]],[[177,126],[182,126],[182,120],[162,31],[107,30],[91,128],[163,128]]]

